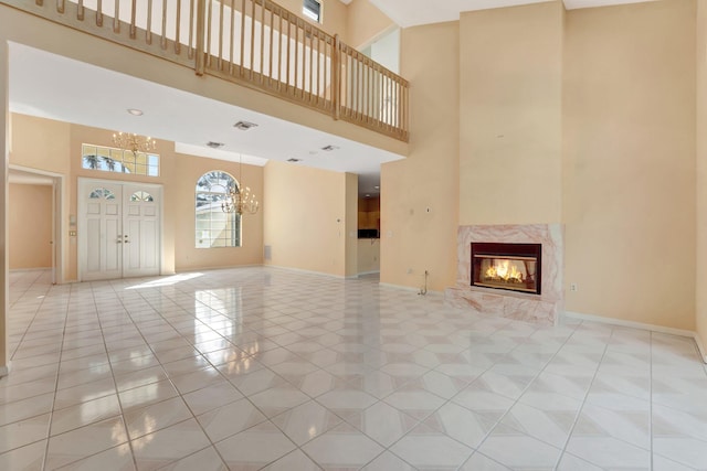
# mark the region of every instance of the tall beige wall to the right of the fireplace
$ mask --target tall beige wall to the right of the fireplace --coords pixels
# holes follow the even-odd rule
[[[695,329],[695,2],[567,13],[569,311]]]

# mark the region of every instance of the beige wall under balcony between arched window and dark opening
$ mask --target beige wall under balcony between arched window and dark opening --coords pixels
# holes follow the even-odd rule
[[[356,227],[356,213],[347,210],[347,178],[286,162],[265,165],[267,265],[347,276],[347,239],[356,244],[356,235],[347,233],[347,217],[354,217]]]

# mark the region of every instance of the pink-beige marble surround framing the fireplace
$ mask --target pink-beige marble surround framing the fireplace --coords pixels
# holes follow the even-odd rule
[[[456,285],[444,291],[457,308],[553,325],[564,309],[564,234],[560,224],[460,226],[456,238]],[[540,295],[472,286],[472,243],[542,245]]]

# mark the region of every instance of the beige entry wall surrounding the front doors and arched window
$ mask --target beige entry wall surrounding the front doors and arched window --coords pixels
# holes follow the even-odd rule
[[[201,157],[178,154],[170,141],[157,140],[160,154],[158,178],[97,172],[82,168],[81,146],[92,143],[112,147],[113,131],[86,126],[68,125],[49,119],[12,115],[13,150],[11,163],[38,170],[53,171],[65,176],[65,223],[77,211],[78,178],[116,180],[161,184],[163,189],[162,213],[162,272],[192,268],[219,268],[239,265],[260,265],[263,260],[263,214],[246,215],[243,220],[243,246],[211,249],[194,247],[194,189],[197,180],[211,170],[223,170],[239,180],[239,163]],[[52,136],[59,146],[51,153],[49,139],[35,136]],[[65,148],[64,148],[65,146]],[[41,156],[45,156],[44,159]],[[49,158],[46,156],[50,156]],[[263,196],[263,168],[242,168],[242,180],[256,197]],[[65,280],[78,277],[78,250],[75,237],[64,239]]]

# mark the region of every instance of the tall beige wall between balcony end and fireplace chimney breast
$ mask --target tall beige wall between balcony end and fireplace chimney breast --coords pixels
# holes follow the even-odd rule
[[[429,270],[442,291],[456,272],[458,22],[405,29],[401,49],[401,75],[414,84],[411,153],[381,165],[380,278],[418,288]]]

